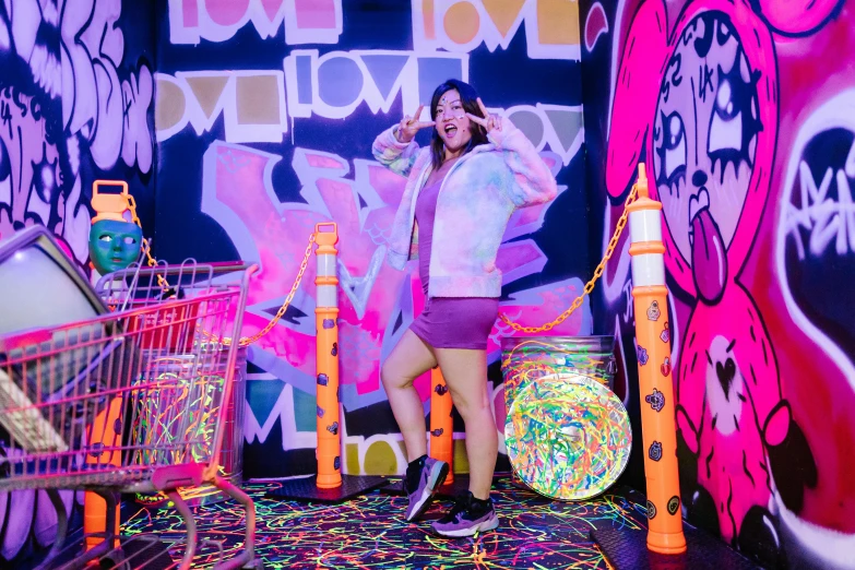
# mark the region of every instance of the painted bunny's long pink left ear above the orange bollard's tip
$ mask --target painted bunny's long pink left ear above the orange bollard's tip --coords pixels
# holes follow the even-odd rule
[[[652,138],[653,115],[668,57],[667,31],[663,1],[642,2],[624,41],[616,79],[606,159],[609,195],[624,194],[641,151]]]

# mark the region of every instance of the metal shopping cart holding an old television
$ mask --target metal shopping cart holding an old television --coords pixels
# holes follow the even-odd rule
[[[204,484],[246,511],[242,551],[215,568],[256,565],[252,500],[217,472],[238,349],[229,341],[240,334],[257,269],[136,266],[97,286],[115,312],[0,337],[0,424],[9,435],[0,491],[47,489],[58,511],[57,539],[40,568],[64,558],[58,489],[95,491],[107,504],[104,539],[63,568],[122,560],[111,532],[117,494],[158,491],[185,520],[180,568],[190,568],[195,523],[177,489]],[[123,567],[134,567],[131,558]]]

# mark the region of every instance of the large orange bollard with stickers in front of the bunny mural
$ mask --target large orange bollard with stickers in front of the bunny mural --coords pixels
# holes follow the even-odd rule
[[[668,289],[662,244],[662,203],[651,200],[644,165],[639,165],[638,200],[630,204],[632,297],[636,311],[641,434],[648,482],[648,549],[686,551],[677,472],[668,329]]]

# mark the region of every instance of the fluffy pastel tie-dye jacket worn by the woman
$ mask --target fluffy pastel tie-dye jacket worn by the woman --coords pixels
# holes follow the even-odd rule
[[[430,149],[401,143],[394,126],[375,140],[373,155],[407,177],[389,240],[389,263],[403,270],[417,259],[416,199],[430,174]],[[446,175],[437,200],[430,250],[429,297],[500,297],[496,256],[514,210],[548,202],[555,178],[534,145],[507,118],[489,143],[473,149]]]

